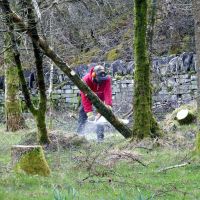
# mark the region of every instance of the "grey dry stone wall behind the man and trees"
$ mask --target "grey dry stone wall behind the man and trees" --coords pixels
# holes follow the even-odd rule
[[[129,68],[132,66],[130,71],[134,73],[133,61],[127,65],[121,61],[117,63],[119,72],[126,66]],[[120,63],[123,66],[119,66]],[[115,71],[115,74],[118,74],[118,72]],[[113,106],[115,111],[125,113],[132,107],[134,81],[131,80],[132,76],[130,75],[121,76],[121,79],[117,80],[115,74],[112,77]],[[111,73],[111,75],[113,74]],[[60,83],[68,80],[62,72],[58,73],[57,78]],[[195,55],[183,53],[179,56],[154,58],[152,83],[153,111],[158,117],[163,117],[167,112],[181,104],[194,100],[197,95]],[[57,108],[75,108],[78,105],[78,93],[77,86],[67,81],[64,86],[53,91],[54,105]],[[4,93],[1,90],[0,103],[3,104],[3,101]]]

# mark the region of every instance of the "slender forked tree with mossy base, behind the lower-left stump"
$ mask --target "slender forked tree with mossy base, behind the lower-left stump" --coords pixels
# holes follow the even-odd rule
[[[11,49],[13,49],[13,57],[14,61],[17,66],[17,72],[19,75],[20,83],[22,85],[22,92],[24,94],[25,102],[31,113],[33,114],[36,125],[38,128],[38,140],[40,144],[48,144],[50,143],[50,139],[48,137],[48,132],[46,129],[46,122],[45,122],[45,114],[46,114],[46,90],[45,90],[45,82],[44,82],[44,73],[43,73],[43,59],[42,59],[42,52],[39,49],[37,43],[33,42],[33,49],[34,55],[36,60],[36,72],[37,72],[37,81],[40,93],[39,105],[38,108],[35,108],[30,97],[29,90],[26,85],[25,77],[22,70],[21,60],[20,60],[20,53],[18,51],[17,46],[17,39],[14,34],[14,25],[12,21],[11,15],[8,14],[8,10],[10,9],[10,5],[8,1],[3,1],[2,4],[4,5],[3,11],[6,14],[6,24],[9,28],[9,35],[11,37]],[[33,11],[32,8],[29,7],[28,9],[28,29],[30,30],[31,34],[34,38],[38,37],[37,30],[36,30],[36,22],[32,18]]]

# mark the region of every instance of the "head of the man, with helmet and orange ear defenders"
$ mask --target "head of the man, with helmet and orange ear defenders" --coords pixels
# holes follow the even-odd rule
[[[94,67],[94,71],[92,73],[92,78],[97,82],[101,83],[108,79],[108,75],[105,72],[105,68],[102,65],[97,65]]]

